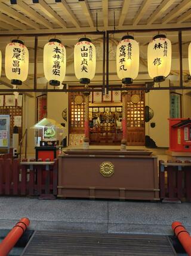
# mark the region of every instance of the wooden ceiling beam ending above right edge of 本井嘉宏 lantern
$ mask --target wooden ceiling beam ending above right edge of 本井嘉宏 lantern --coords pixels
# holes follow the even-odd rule
[[[60,16],[44,1],[44,0],[33,0],[33,4],[38,6],[39,10],[47,14],[51,20],[57,23],[61,28],[66,28],[66,22],[61,19]]]

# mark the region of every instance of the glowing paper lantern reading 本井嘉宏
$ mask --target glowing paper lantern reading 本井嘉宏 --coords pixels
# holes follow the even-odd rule
[[[50,85],[59,86],[66,76],[66,49],[53,38],[44,46],[44,75]]]

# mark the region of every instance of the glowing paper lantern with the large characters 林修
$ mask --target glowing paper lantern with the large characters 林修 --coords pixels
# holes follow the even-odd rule
[[[171,41],[165,35],[156,35],[149,43],[147,63],[149,76],[154,82],[162,82],[171,71]]]

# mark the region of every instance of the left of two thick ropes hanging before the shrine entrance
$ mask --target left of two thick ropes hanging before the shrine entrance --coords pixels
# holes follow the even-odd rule
[[[88,85],[85,86],[88,88]],[[90,146],[90,127],[89,127],[89,96],[90,92],[84,92],[85,98],[85,114],[84,114],[84,149],[88,149]]]

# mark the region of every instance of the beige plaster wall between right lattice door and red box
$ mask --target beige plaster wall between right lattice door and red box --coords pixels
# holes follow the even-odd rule
[[[161,86],[169,86],[169,80],[163,82]],[[149,135],[156,146],[169,147],[170,92],[150,91],[145,94],[145,106],[149,106],[154,112],[153,118],[145,123],[145,135]],[[155,128],[150,127],[152,122],[155,122]]]

